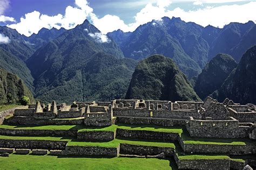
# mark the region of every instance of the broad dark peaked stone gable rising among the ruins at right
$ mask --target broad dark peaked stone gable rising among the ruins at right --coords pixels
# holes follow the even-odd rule
[[[212,120],[228,120],[230,112],[223,103],[212,102],[206,109],[204,117],[212,117]]]

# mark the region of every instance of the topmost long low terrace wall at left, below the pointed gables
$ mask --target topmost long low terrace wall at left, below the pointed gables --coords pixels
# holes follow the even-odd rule
[[[79,125],[83,124],[81,119],[35,119],[33,117],[11,117],[5,119],[5,123],[11,125]]]

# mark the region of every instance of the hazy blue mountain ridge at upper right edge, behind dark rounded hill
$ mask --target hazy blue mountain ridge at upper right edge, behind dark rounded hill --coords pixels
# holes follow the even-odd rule
[[[213,41],[208,58],[213,58],[217,53],[226,53],[231,54],[236,61],[239,61],[246,49],[254,45],[255,40],[252,40],[253,37],[245,37],[245,34],[250,31],[253,26],[255,26],[255,24],[252,21],[245,24],[230,23],[224,26]],[[251,30],[250,34],[256,34],[255,31],[255,29]],[[246,39],[249,43],[242,43],[242,39]],[[241,43],[244,47],[239,46]],[[236,48],[236,51],[239,53],[232,52],[233,48]]]

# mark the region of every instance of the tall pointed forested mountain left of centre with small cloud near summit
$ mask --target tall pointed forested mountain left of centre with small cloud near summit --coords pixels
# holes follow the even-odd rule
[[[125,95],[136,61],[87,20],[39,48],[26,61],[35,97],[44,102],[112,100]]]

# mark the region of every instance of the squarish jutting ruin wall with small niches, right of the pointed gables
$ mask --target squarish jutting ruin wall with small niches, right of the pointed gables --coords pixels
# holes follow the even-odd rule
[[[102,112],[97,114],[85,114],[84,124],[86,126],[110,126],[112,124],[111,113]]]

